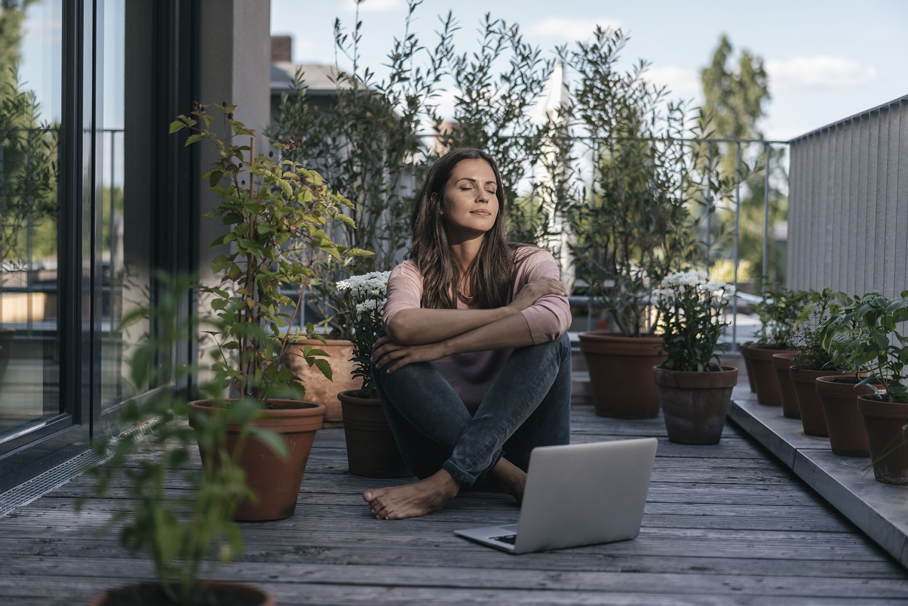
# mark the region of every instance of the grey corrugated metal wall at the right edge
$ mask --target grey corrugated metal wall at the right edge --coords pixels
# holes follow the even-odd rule
[[[788,187],[788,288],[908,288],[908,95],[793,139]]]

